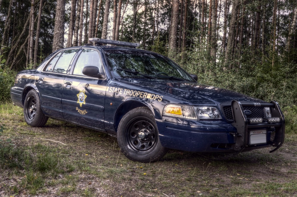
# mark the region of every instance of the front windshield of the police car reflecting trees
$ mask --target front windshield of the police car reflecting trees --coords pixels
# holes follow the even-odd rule
[[[116,78],[175,79],[193,81],[176,63],[156,53],[106,50],[111,74]]]

